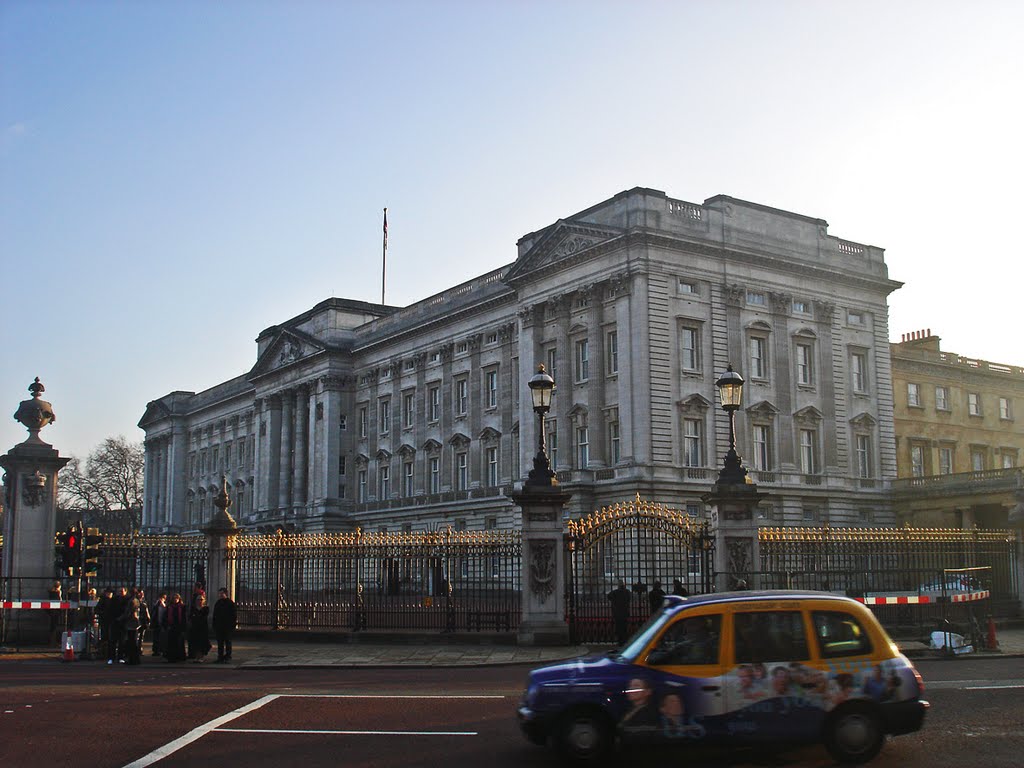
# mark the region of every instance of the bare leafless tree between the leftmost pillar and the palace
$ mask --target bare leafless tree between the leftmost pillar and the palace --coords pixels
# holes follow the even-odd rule
[[[108,437],[83,463],[60,470],[58,501],[66,513],[110,532],[130,534],[142,523],[145,454],[140,442]]]

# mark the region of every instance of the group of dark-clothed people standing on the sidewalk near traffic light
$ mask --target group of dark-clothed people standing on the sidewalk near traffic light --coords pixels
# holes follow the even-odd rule
[[[231,635],[237,623],[234,602],[221,588],[213,607],[213,631],[217,639],[217,662],[231,658]],[[213,647],[210,642],[210,606],[206,590],[197,583],[186,606],[180,593],[161,593],[150,606],[141,589],[129,592],[108,588],[97,600],[95,617],[106,664],[139,664],[146,633],[153,655],[168,662],[190,659],[200,664]]]

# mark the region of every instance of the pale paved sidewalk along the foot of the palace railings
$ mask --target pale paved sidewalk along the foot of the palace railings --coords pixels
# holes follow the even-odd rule
[[[1024,655],[1024,627],[999,629],[998,650],[977,651],[956,656],[958,658],[1005,658]],[[899,641],[900,650],[911,658],[948,657],[941,650],[933,650],[924,643]],[[308,642],[300,637],[244,636],[234,642],[233,659],[226,665],[240,670],[288,669],[345,669],[358,667],[379,668],[437,668],[437,667],[492,667],[498,665],[540,666],[575,658],[591,652],[608,650],[609,646],[554,646],[526,647],[510,644],[470,644],[426,642],[422,637],[414,641],[387,642],[377,636],[371,642]],[[61,657],[57,648],[0,649],[0,666],[9,662],[55,662]],[[211,665],[216,653],[208,656]],[[104,665],[103,659],[84,664]],[[146,654],[143,666],[166,665],[163,658]],[[188,663],[183,663],[191,667]],[[219,667],[219,665],[215,665]]]

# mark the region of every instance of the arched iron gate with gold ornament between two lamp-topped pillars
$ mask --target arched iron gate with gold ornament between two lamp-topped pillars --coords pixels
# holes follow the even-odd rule
[[[650,615],[649,593],[714,590],[714,539],[707,521],[636,500],[568,521],[566,620],[573,643],[613,643],[608,593],[630,590],[630,631]]]

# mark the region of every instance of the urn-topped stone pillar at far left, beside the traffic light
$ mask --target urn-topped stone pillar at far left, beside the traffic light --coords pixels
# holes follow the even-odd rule
[[[3,571],[6,599],[45,600],[56,575],[53,536],[56,532],[57,472],[70,460],[39,438],[40,430],[55,420],[39,378],[29,387],[32,399],[23,400],[14,418],[29,430],[29,439],[0,457],[4,469],[6,510],[3,523]],[[24,611],[19,616],[22,642],[45,642],[49,616]]]

